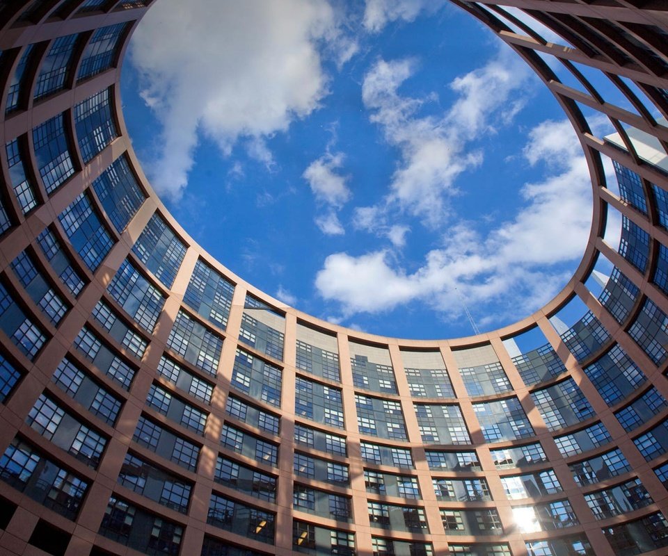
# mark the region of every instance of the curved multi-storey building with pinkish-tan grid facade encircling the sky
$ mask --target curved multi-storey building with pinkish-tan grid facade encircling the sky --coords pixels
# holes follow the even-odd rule
[[[280,304],[166,211],[118,95],[148,0],[0,1],[1,554],[668,553],[668,4],[454,3],[564,108],[593,224],[540,311],[404,341]]]

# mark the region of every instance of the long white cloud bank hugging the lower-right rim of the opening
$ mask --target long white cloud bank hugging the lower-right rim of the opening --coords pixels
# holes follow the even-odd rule
[[[391,250],[331,254],[316,277],[320,295],[346,317],[417,300],[454,317],[461,312],[457,288],[474,313],[484,311],[481,325],[498,325],[506,311],[517,315],[545,304],[568,280],[570,272],[559,263],[576,261],[587,243],[591,181],[567,121],[532,129],[524,158],[550,171],[522,186],[524,204],[514,218],[485,235],[475,222],[456,222],[414,272],[402,268]]]

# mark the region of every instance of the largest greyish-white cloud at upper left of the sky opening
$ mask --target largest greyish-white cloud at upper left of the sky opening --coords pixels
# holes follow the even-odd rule
[[[132,40],[142,97],[163,129],[145,165],[178,199],[200,133],[229,154],[239,138],[271,166],[264,138],[309,115],[327,94],[321,52],[343,63],[356,50],[326,0],[161,0]]]

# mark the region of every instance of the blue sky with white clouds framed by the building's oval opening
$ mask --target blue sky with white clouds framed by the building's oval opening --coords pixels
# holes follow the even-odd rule
[[[450,4],[160,0],[123,72],[134,148],[170,211],[297,309],[468,336],[461,297],[493,329],[580,261],[591,185],[575,134]]]

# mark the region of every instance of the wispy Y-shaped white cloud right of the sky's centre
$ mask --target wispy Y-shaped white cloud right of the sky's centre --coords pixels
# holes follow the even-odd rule
[[[432,228],[443,224],[450,215],[448,199],[459,193],[456,178],[482,162],[482,153],[468,148],[470,142],[511,122],[527,100],[527,70],[505,49],[450,83],[458,96],[443,115],[420,115],[434,95],[401,95],[399,88],[416,71],[411,58],[378,60],[365,75],[362,98],[369,118],[399,149],[400,160],[384,199],[358,208],[356,222],[362,229],[383,233],[383,217],[392,212],[420,218]]]

